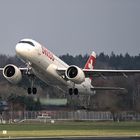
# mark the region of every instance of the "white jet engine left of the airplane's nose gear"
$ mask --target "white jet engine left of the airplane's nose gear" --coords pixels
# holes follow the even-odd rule
[[[8,64],[4,67],[3,76],[12,84],[17,84],[22,79],[20,69],[12,64]]]

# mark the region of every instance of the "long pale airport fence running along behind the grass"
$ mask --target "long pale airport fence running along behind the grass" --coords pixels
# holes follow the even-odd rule
[[[117,121],[140,120],[140,113],[136,112],[111,112],[97,111],[9,111],[0,116],[0,123],[13,123],[23,121],[48,122],[57,121]]]

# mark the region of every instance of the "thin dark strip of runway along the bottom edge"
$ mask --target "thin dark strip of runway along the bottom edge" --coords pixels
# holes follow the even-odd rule
[[[1,139],[1,138],[0,138]],[[2,138],[4,140],[140,140],[140,137],[50,137],[50,138]]]

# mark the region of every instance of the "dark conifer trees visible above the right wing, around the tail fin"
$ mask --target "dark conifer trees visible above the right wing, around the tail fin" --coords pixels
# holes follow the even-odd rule
[[[81,68],[84,67],[88,57],[88,54],[84,56],[72,56],[69,54],[60,56],[60,58],[69,65],[75,64]],[[130,56],[128,53],[125,55],[116,55],[112,52],[111,55],[107,55],[102,52],[97,55],[95,68],[140,69],[140,54]]]

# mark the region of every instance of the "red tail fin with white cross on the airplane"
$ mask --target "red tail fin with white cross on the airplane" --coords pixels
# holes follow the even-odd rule
[[[94,69],[95,62],[96,62],[96,53],[92,52],[84,69]]]

